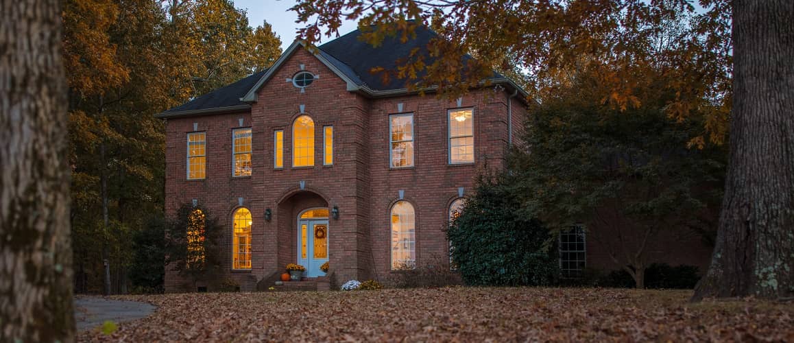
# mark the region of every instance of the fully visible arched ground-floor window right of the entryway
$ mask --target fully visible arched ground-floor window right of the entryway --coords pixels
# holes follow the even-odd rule
[[[391,269],[416,266],[416,230],[414,206],[399,201],[391,206]]]

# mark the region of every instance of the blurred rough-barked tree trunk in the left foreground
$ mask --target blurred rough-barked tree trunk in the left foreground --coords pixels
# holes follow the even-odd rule
[[[0,0],[0,341],[74,341],[58,0]]]

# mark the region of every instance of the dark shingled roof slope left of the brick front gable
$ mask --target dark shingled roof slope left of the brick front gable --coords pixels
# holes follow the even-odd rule
[[[253,87],[256,81],[262,78],[262,75],[264,75],[266,71],[268,71],[268,69],[248,75],[228,86],[220,87],[190,102],[166,110],[163,114],[247,105],[245,102],[241,102],[240,98]]]

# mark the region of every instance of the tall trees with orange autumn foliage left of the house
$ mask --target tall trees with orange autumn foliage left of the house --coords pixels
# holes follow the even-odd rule
[[[129,242],[163,211],[164,125],[152,114],[267,67],[280,40],[228,1],[67,0],[63,18],[75,286],[124,293],[140,269]]]

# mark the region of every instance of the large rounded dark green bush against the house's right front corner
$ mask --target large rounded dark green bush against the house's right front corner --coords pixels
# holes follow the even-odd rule
[[[464,283],[551,285],[559,269],[549,230],[522,213],[509,175],[482,175],[449,226],[453,263]]]

